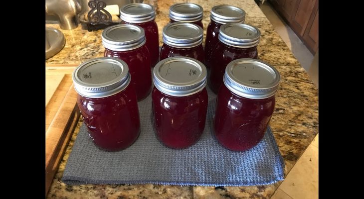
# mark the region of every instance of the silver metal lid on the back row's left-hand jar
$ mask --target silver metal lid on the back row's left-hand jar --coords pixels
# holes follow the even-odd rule
[[[120,18],[129,23],[144,23],[156,18],[154,6],[146,3],[130,3],[120,8]]]

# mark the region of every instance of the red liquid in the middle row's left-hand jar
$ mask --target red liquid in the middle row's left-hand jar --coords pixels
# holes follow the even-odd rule
[[[152,87],[151,60],[145,45],[130,51],[112,51],[105,48],[104,56],[117,57],[128,64],[132,76],[130,84],[133,85],[138,100],[143,100],[149,95]]]

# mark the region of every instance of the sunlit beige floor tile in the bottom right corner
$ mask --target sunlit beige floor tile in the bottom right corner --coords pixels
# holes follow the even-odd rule
[[[319,149],[310,144],[279,186],[293,199],[319,198]]]

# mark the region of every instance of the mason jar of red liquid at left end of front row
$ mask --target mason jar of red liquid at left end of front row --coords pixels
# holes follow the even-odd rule
[[[140,134],[137,96],[128,65],[117,58],[94,58],[78,66],[72,80],[91,140],[106,151],[128,148]]]

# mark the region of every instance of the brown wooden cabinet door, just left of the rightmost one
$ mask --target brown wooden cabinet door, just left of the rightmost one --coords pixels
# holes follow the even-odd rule
[[[291,21],[292,29],[303,36],[317,0],[300,0],[297,12]]]

